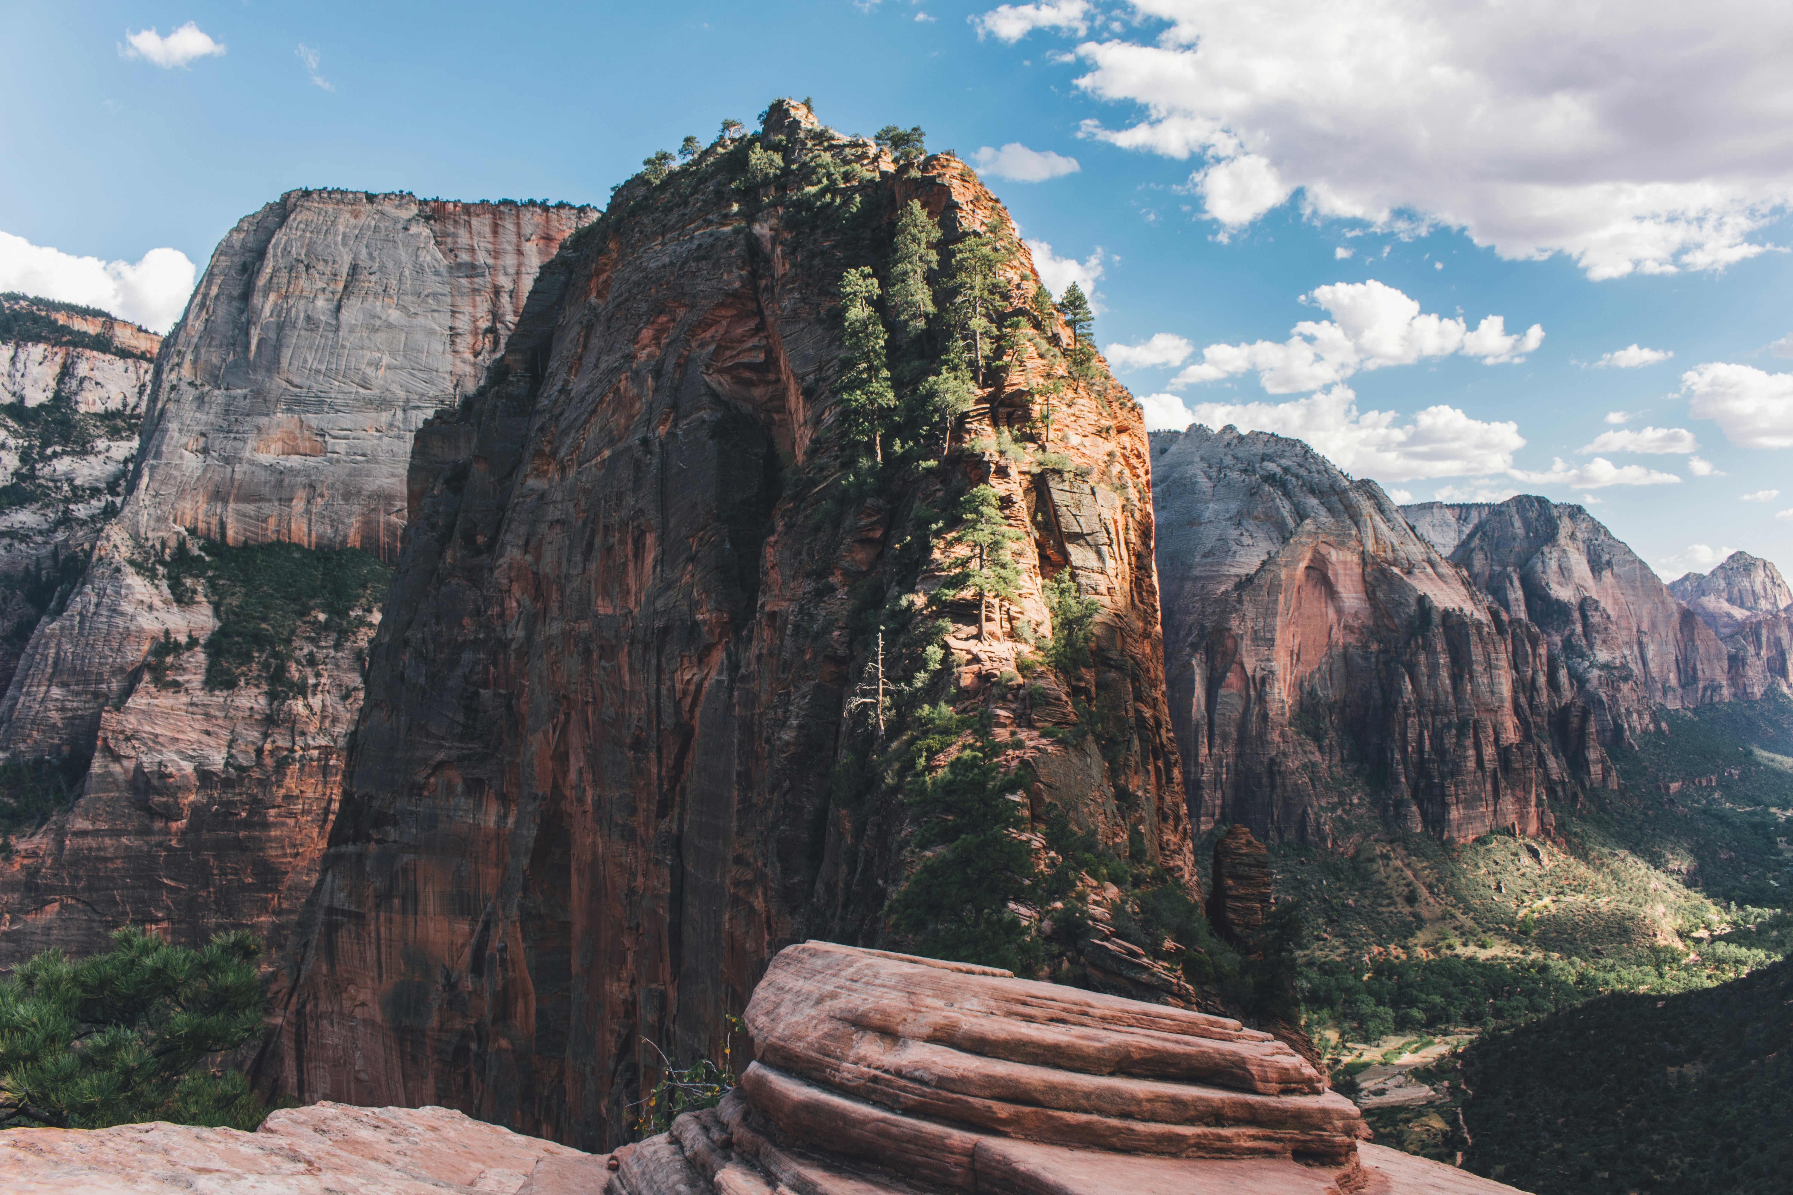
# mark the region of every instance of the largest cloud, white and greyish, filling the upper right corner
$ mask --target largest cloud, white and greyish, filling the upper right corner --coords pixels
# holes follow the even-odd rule
[[[1117,145],[1200,156],[1207,215],[1300,193],[1316,217],[1465,229],[1590,278],[1719,269],[1793,201],[1793,5],[1126,0],[1078,86],[1137,106]],[[1085,4],[974,18],[1013,41]],[[1149,32],[1146,32],[1149,30]]]

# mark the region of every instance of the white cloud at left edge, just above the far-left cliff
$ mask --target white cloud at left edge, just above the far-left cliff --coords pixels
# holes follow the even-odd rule
[[[82,303],[167,331],[194,292],[194,263],[179,249],[151,249],[136,263],[77,258],[0,233],[0,290]]]

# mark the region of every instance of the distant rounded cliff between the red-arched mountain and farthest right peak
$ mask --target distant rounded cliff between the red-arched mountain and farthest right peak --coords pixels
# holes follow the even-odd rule
[[[1576,505],[1510,498],[1451,559],[1563,658],[1603,742],[1653,726],[1653,709],[1727,701],[1728,654],[1635,552]]]

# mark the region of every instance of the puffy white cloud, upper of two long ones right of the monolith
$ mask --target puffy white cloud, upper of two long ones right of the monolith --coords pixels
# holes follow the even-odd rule
[[[1519,362],[1544,342],[1538,324],[1524,333],[1508,333],[1501,315],[1485,317],[1474,330],[1461,319],[1422,315],[1416,299],[1375,279],[1318,287],[1302,301],[1327,310],[1332,319],[1302,321],[1295,335],[1280,344],[1210,344],[1171,387],[1257,371],[1266,391],[1291,394],[1334,385],[1361,369],[1411,365],[1452,353],[1490,365]]]

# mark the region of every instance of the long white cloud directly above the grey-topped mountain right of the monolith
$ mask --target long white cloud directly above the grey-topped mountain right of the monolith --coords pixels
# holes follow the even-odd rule
[[[1230,423],[1241,432],[1291,435],[1341,469],[1379,482],[1497,473],[1526,444],[1517,423],[1483,423],[1456,407],[1427,407],[1409,421],[1393,410],[1357,410],[1357,396],[1345,385],[1291,403],[1187,405],[1174,394],[1149,394],[1140,405],[1148,428]]]

